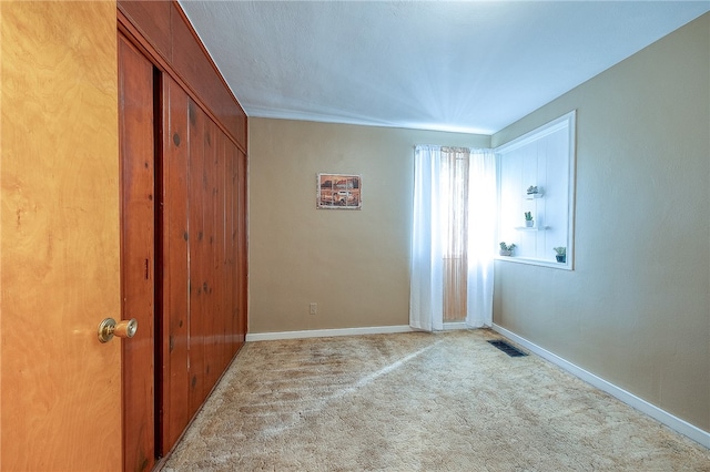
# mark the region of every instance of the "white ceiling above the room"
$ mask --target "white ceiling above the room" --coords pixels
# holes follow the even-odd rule
[[[710,10],[710,0],[180,4],[248,116],[484,134]]]

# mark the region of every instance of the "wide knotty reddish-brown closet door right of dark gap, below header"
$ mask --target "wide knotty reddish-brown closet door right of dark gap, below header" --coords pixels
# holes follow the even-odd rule
[[[236,145],[164,79],[162,450],[169,451],[244,340]],[[245,259],[244,259],[245,260]],[[241,331],[240,331],[241,329]]]

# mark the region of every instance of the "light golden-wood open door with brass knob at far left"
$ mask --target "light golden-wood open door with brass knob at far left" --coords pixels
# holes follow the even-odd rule
[[[0,470],[119,471],[115,7],[0,2]]]

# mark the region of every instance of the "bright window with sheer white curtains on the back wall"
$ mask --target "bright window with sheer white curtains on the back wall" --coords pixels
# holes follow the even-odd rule
[[[493,151],[416,146],[412,327],[490,326],[495,212]]]

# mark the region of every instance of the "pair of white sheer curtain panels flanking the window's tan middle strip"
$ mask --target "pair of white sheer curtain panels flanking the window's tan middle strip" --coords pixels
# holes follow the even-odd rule
[[[442,146],[415,148],[414,216],[409,325],[432,331],[444,329],[444,232]],[[496,167],[489,150],[470,150],[467,213],[466,325],[493,321],[493,255],[496,228]]]

